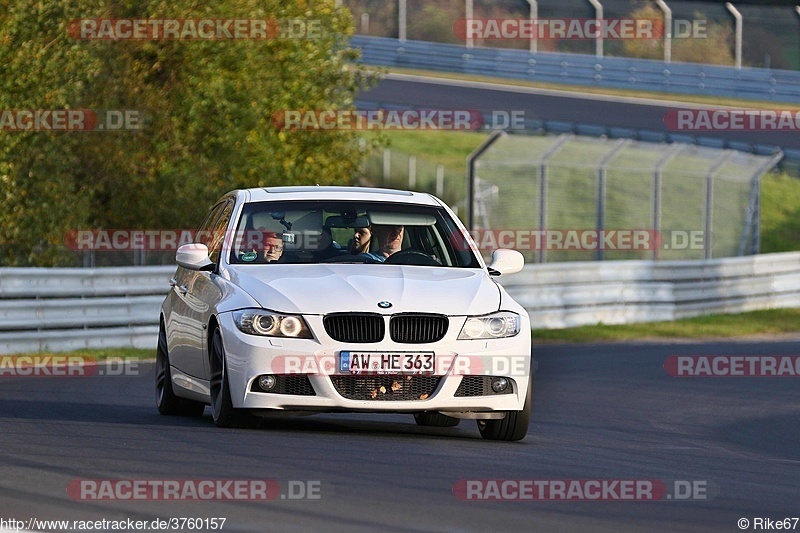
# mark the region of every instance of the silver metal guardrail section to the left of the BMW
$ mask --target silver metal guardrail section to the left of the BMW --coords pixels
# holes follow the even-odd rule
[[[0,353],[155,350],[158,311],[174,272],[174,266],[0,268]]]

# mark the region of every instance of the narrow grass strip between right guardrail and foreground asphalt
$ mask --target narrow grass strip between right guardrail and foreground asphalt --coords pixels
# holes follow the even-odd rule
[[[533,341],[535,344],[536,342],[586,343],[648,339],[736,339],[794,333],[800,334],[800,309],[769,309],[737,315],[706,315],[674,322],[535,329]]]

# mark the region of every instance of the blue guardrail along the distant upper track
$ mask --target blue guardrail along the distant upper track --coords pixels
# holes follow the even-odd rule
[[[502,48],[466,48],[424,41],[357,35],[351,46],[371,65],[460,72],[500,78],[706,95],[772,102],[800,102],[800,72],[649,59],[598,58]]]

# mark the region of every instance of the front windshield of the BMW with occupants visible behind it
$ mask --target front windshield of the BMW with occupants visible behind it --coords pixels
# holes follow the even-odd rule
[[[480,267],[442,208],[342,201],[245,204],[230,263]]]

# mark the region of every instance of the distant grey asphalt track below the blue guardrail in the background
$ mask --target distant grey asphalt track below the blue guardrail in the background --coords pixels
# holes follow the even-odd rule
[[[525,87],[429,79],[390,74],[359,99],[379,106],[400,105],[416,109],[472,109],[488,111],[523,111],[526,119],[558,120],[574,123],[603,124],[668,132],[664,115],[670,109],[706,108],[699,104],[659,102],[649,99],[600,96],[578,92],[548,91]],[[457,104],[454,104],[456,102]],[[781,109],[779,104],[768,109]],[[710,131],[672,132],[716,137],[748,144],[800,148],[796,131]],[[799,526],[800,527],[800,526]]]

